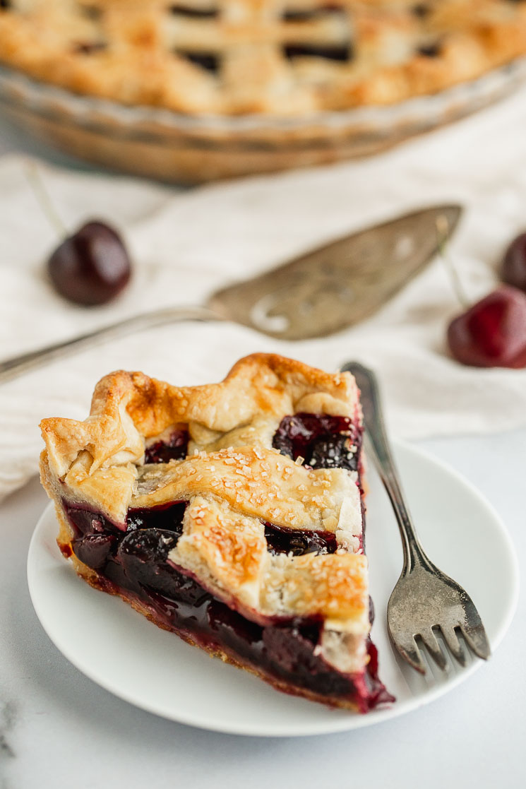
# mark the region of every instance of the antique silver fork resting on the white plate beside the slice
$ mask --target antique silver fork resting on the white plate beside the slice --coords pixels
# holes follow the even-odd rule
[[[393,505],[404,548],[404,567],[387,605],[390,638],[408,664],[422,674],[426,669],[416,638],[423,641],[438,667],[442,671],[446,669],[446,656],[436,638],[438,630],[462,666],[466,664],[466,655],[458,639],[459,632],[470,649],[487,660],[491,654],[489,641],[471,597],[428,559],[416,536],[387,441],[375,374],[356,362],[349,362],[342,369],[352,372],[360,387],[365,449]]]

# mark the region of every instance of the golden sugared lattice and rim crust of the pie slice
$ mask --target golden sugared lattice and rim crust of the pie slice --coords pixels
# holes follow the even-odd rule
[[[185,501],[170,563],[252,621],[323,619],[323,657],[360,671],[370,623],[357,474],[310,468],[272,447],[282,417],[305,411],[351,417],[359,427],[353,377],[267,354],[245,357],[222,383],[201,387],[173,387],[139,372],[106,376],[86,421],[55,417],[41,425],[41,475],[57,508],[62,552],[73,554],[66,505],[125,530],[129,508]],[[144,465],[144,447],[175,426],[188,426],[189,454]],[[338,551],[273,555],[267,522],[333,533]],[[104,585],[73,562],[88,583]]]

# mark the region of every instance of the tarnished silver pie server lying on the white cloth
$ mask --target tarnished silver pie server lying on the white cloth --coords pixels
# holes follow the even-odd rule
[[[325,337],[370,316],[431,260],[461,217],[435,206],[360,230],[266,274],[217,290],[202,306],[166,307],[0,362],[0,383],[103,340],[181,320],[229,320],[270,337]],[[437,233],[437,223],[446,232]]]

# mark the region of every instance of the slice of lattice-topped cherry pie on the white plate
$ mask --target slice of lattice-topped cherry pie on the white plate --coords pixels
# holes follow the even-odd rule
[[[265,354],[202,387],[115,372],[86,421],[41,427],[58,544],[89,584],[279,690],[393,701],[369,637],[349,373]]]

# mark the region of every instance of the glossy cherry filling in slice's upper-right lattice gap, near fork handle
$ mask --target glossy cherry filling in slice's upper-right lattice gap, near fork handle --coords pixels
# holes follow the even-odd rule
[[[315,469],[358,470],[362,429],[350,417],[326,413],[295,413],[283,417],[272,446]]]

